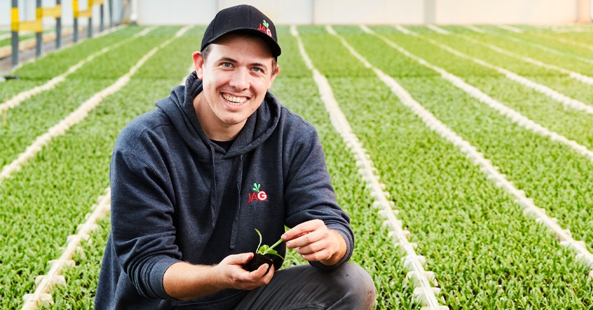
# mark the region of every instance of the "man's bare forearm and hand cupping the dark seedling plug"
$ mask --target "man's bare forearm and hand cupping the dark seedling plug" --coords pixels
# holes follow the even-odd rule
[[[255,289],[268,285],[274,276],[274,266],[261,265],[252,272],[243,265],[253,258],[253,253],[234,254],[225,257],[218,265],[191,265],[177,262],[163,278],[165,292],[172,298],[188,300],[206,296],[223,289]]]

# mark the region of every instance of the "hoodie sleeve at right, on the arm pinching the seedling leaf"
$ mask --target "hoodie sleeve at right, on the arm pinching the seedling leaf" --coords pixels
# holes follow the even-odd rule
[[[294,227],[307,220],[321,219],[328,228],[338,231],[343,236],[347,250],[336,265],[325,266],[321,262],[310,262],[310,265],[318,269],[332,270],[352,256],[354,234],[350,228],[350,217],[336,202],[336,194],[317,133],[308,123],[303,124],[303,131],[288,151],[290,168],[285,184],[286,222],[290,227]]]

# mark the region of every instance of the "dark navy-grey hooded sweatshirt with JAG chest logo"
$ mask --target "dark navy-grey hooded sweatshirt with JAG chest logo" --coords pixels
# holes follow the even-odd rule
[[[312,219],[339,231],[352,255],[350,218],[336,203],[312,125],[268,92],[225,150],[200,127],[195,72],[157,110],[119,134],[110,166],[112,230],[103,256],[96,309],[229,309],[245,291],[223,290],[180,302],[163,289],[170,265],[214,265],[230,254],[272,245]],[[285,245],[277,247],[284,256]],[[282,260],[274,262],[276,269]]]

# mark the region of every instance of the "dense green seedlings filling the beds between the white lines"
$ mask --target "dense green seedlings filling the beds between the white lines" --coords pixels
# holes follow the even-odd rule
[[[447,30],[505,48],[523,56],[593,76],[593,65],[577,56],[590,49],[566,40],[593,45],[590,32],[556,33],[527,28],[510,34],[495,26],[480,26],[478,34],[461,26]],[[10,163],[35,137],[76,109],[92,94],[128,72],[148,50],[172,37],[180,27],[160,27],[84,65],[54,90],[33,96],[6,114],[0,127],[0,166]],[[139,68],[132,81],[106,98],[82,123],[52,140],[21,171],[0,183],[0,308],[17,309],[22,296],[34,290],[34,278],[48,271],[59,257],[66,237],[83,223],[97,196],[108,187],[110,153],[119,131],[132,118],[154,109],[188,75],[191,53],[204,27],[157,52]],[[365,59],[393,76],[439,120],[476,146],[523,189],[534,203],[570,228],[572,236],[593,247],[593,164],[564,145],[525,130],[479,103],[438,73],[390,48],[385,42],[343,25],[339,32]],[[514,110],[593,149],[593,116],[565,109],[501,74],[445,52],[425,40],[402,34],[391,26],[372,27],[388,39],[423,57]],[[508,68],[585,103],[593,100],[588,85],[558,72],[501,56],[454,35],[439,35],[417,25],[408,28],[489,63]],[[580,29],[580,28],[579,28]],[[15,70],[18,81],[2,83],[0,101],[41,85],[97,50],[143,30],[125,27],[43,56]],[[521,207],[485,178],[459,149],[430,130],[403,106],[374,72],[348,52],[323,26],[299,26],[313,64],[328,76],[336,101],[352,130],[367,149],[390,193],[398,218],[410,230],[416,253],[425,256],[425,269],[434,271],[450,309],[590,309],[593,281],[589,269],[570,249],[523,216]],[[321,138],[338,203],[351,217],[356,236],[352,262],[372,276],[379,292],[376,309],[419,309],[413,287],[405,281],[403,254],[383,225],[379,210],[359,175],[356,162],[330,123],[312,73],[306,67],[288,26],[278,28],[283,53],[281,74],[272,92],[290,110],[312,123]],[[541,48],[558,52],[545,51]],[[13,83],[17,82],[17,83]],[[254,184],[259,191],[259,184]],[[100,262],[109,231],[101,220],[92,242],[82,245],[76,265],[64,269],[66,286],[52,291],[50,309],[92,309]],[[274,254],[282,240],[257,251]],[[275,253],[278,255],[277,253]],[[307,263],[287,251],[283,267]]]

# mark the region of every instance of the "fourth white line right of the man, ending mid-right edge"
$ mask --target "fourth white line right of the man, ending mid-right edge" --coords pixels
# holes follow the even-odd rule
[[[545,94],[546,96],[550,97],[551,99],[554,99],[555,101],[558,101],[559,103],[562,103],[563,105],[565,105],[565,107],[570,107],[571,109],[574,109],[574,110],[583,111],[583,112],[587,112],[589,114],[593,114],[593,105],[587,105],[586,103],[583,103],[576,99],[572,99],[568,96],[565,96],[564,94],[556,92],[556,90],[552,90],[552,88],[550,88],[550,87],[541,85],[540,83],[536,83],[535,81],[527,79],[524,76],[520,76],[519,74],[510,72],[509,70],[506,70],[505,68],[501,68],[497,65],[492,65],[491,63],[487,63],[481,59],[477,59],[474,56],[470,56],[468,54],[459,52],[458,50],[455,50],[454,48],[451,48],[450,46],[445,45],[443,43],[439,43],[438,41],[435,41],[433,39],[421,37],[419,34],[417,34],[415,32],[412,32],[412,35],[414,37],[429,41],[430,43],[439,46],[440,48],[442,48],[443,50],[446,50],[447,52],[450,52],[451,54],[454,54],[461,58],[468,59],[470,61],[474,61],[474,63],[483,65],[486,68],[496,70],[497,72],[504,74],[508,79],[511,79],[512,81],[516,81],[517,83],[519,83],[525,87],[530,87],[533,90],[540,92],[541,94]]]

